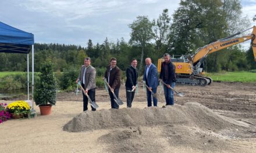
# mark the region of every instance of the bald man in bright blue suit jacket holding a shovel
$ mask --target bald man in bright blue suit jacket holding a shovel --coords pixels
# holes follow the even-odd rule
[[[149,87],[147,88],[147,101],[148,107],[152,106],[152,96],[151,92],[157,93],[157,86],[158,86],[158,75],[157,75],[157,67],[152,64],[151,59],[148,57],[145,59],[145,72],[143,76],[143,81],[145,81],[146,85]],[[157,98],[153,97],[153,104],[157,107]]]

